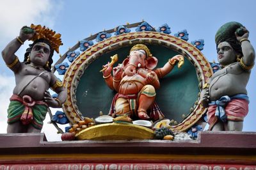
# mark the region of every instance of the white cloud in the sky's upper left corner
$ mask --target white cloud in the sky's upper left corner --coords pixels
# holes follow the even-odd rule
[[[62,8],[61,1],[0,1],[0,47],[6,45],[19,35],[22,26],[41,24],[47,27],[53,27],[58,12]]]

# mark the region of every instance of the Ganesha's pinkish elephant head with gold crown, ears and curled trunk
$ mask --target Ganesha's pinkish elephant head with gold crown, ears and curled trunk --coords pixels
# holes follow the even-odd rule
[[[138,68],[153,70],[157,65],[157,58],[153,57],[148,47],[137,44],[130,50],[130,55],[123,61],[125,75],[132,76]]]

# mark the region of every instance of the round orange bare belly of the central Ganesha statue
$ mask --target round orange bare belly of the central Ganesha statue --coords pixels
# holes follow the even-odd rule
[[[138,94],[143,86],[145,86],[145,84],[145,78],[141,77],[141,75],[125,75],[125,77],[120,82],[119,93],[123,95]]]

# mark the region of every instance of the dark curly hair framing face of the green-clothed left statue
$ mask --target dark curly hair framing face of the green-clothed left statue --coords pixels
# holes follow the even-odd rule
[[[28,56],[29,56],[31,50],[33,49],[34,45],[35,45],[36,43],[38,43],[38,42],[46,43],[46,44],[49,45],[49,47],[50,47],[50,56],[49,56],[49,59],[48,59],[49,64],[48,64],[47,67],[44,66],[44,68],[45,68],[45,70],[47,70],[48,72],[51,72],[51,65],[52,65],[52,63],[53,63],[52,56],[53,56],[54,49],[52,49],[51,44],[49,43],[48,40],[39,39],[39,40],[35,40],[35,42],[29,44],[29,48],[26,49],[26,52],[25,52],[25,54],[24,54],[24,63],[25,63],[25,64],[28,64],[28,63],[29,63],[29,61],[27,61],[27,60],[28,60]]]

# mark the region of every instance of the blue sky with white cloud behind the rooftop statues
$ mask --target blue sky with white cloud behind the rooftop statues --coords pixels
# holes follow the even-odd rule
[[[256,48],[256,1],[214,0],[214,1],[33,1],[33,0],[0,0],[0,50],[8,42],[19,35],[22,26],[41,24],[61,33],[63,46],[60,53],[64,54],[68,47],[103,29],[134,22],[142,19],[154,27],[167,23],[171,27],[171,35],[187,29],[189,40],[205,40],[202,50],[210,62],[216,58],[214,36],[218,28],[230,21],[241,22],[250,31],[250,41]],[[23,60],[26,42],[17,52]],[[59,56],[54,54],[54,62]],[[62,77],[60,77],[62,78]],[[253,68],[248,82],[250,97],[249,113],[244,120],[243,131],[256,131],[256,68]],[[0,59],[0,133],[6,133],[6,117],[9,98],[15,86],[13,73],[8,70]],[[52,110],[55,112],[56,110]],[[49,141],[60,140],[56,129],[44,121],[42,130]],[[65,126],[64,126],[65,127]]]

